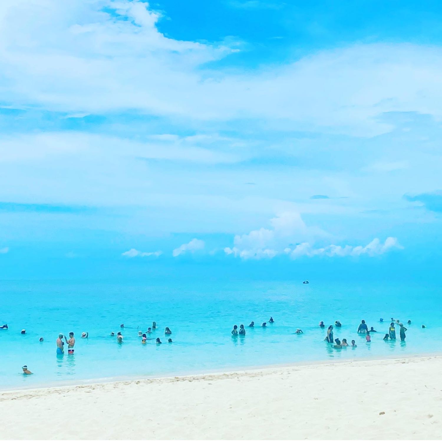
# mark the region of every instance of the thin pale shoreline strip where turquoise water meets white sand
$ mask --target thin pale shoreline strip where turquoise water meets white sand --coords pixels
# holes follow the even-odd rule
[[[101,377],[101,378],[90,378],[90,379],[79,379],[72,380],[72,382],[60,381],[60,383],[42,383],[39,385],[24,386],[24,387],[11,387],[4,389],[0,386],[0,400],[4,393],[13,392],[32,392],[38,390],[46,389],[68,389],[75,387],[87,387],[94,385],[107,385],[107,384],[119,384],[137,382],[137,381],[163,381],[170,379],[181,379],[186,380],[188,377],[199,378],[206,376],[231,376],[233,374],[249,374],[254,372],[266,372],[277,369],[296,369],[298,367],[310,367],[315,368],[316,366],[328,366],[328,365],[351,365],[358,362],[377,362],[377,361],[402,361],[402,360],[414,360],[414,359],[428,359],[428,358],[442,358],[442,352],[434,353],[423,353],[423,354],[410,354],[402,357],[397,357],[397,355],[391,356],[379,356],[379,357],[367,357],[367,358],[352,358],[352,359],[339,359],[336,361],[322,360],[322,361],[300,361],[300,362],[287,362],[284,364],[266,364],[263,366],[243,366],[238,368],[227,368],[226,370],[208,370],[208,371],[192,371],[192,372],[171,372],[162,375],[152,375],[152,376],[113,376],[113,377]]]

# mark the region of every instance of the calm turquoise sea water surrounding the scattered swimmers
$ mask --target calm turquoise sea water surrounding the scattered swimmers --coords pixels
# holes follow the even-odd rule
[[[311,282],[41,282],[4,281],[0,288],[0,389],[69,384],[76,381],[201,373],[240,367],[351,358],[401,357],[442,348],[438,286],[419,284]],[[273,316],[275,323],[260,327]],[[389,318],[410,319],[405,343],[384,342]],[[383,317],[385,322],[379,323]],[[378,333],[367,344],[356,330],[361,319]],[[247,326],[255,321],[255,328]],[[335,338],[358,347],[333,349],[318,327],[340,320]],[[143,332],[163,344],[141,345]],[[122,329],[119,345],[110,332]],[[233,338],[232,326],[247,334]],[[427,329],[421,328],[422,324]],[[127,327],[131,328],[127,328]],[[171,328],[168,344],[164,328]],[[27,330],[21,335],[22,328]],[[304,331],[295,333],[296,328]],[[57,335],[73,331],[74,355],[56,355]],[[89,332],[81,339],[82,331]],[[399,337],[399,330],[396,329]],[[38,339],[42,336],[43,343]],[[66,346],[67,347],[67,346]],[[23,376],[26,364],[33,376]]]

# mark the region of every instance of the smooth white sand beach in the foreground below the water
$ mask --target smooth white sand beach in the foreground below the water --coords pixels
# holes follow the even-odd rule
[[[439,439],[441,389],[421,357],[3,392],[0,437]]]

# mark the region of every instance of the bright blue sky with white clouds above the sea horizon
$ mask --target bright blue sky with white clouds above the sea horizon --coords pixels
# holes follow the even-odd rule
[[[2,1],[0,277],[437,269],[441,19]]]

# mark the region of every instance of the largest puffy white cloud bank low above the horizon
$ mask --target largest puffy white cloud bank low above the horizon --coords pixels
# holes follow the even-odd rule
[[[398,240],[393,237],[388,237],[384,243],[375,238],[366,246],[330,244],[315,248],[314,244],[318,240],[324,242],[329,237],[328,233],[315,227],[308,227],[301,215],[296,212],[278,215],[271,220],[271,225],[272,229],[261,228],[245,235],[236,235],[233,239],[234,246],[224,248],[225,254],[242,259],[272,259],[276,255],[289,255],[290,258],[296,259],[301,256],[317,255],[375,256],[394,248],[402,248]],[[290,244],[297,245],[293,247]]]

